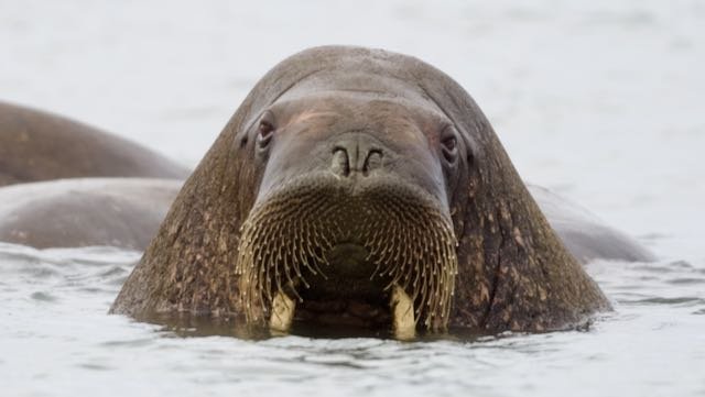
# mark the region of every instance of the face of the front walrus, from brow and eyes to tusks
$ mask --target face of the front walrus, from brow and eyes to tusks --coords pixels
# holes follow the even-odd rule
[[[361,92],[282,98],[247,139],[261,170],[237,261],[248,321],[392,326],[397,337],[446,327],[448,198],[466,156],[442,112]]]

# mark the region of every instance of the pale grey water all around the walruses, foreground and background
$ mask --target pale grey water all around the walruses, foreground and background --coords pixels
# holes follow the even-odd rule
[[[589,264],[615,312],[582,332],[247,341],[107,316],[139,253],[0,244],[2,396],[705,396],[701,1],[0,0],[0,99],[195,165],[269,67],[327,43],[447,71],[524,178],[660,261]]]

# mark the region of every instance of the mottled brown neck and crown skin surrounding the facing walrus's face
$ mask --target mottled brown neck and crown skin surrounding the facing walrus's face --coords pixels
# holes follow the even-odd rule
[[[435,191],[432,196],[446,207],[459,243],[448,327],[490,333],[556,330],[609,308],[550,228],[489,122],[460,86],[413,57],[319,47],[282,62],[246,98],[186,181],[112,312],[138,318],[154,312],[240,317],[236,274],[240,227],[262,190],[285,181],[275,173],[264,177],[272,168],[257,157],[257,122],[272,104],[305,102],[308,96],[329,91],[382,104],[346,113],[349,117],[383,124],[386,114],[399,115],[400,107],[410,114],[421,109],[441,115],[456,131],[462,153],[457,166],[441,174],[430,172],[441,175],[440,188],[422,186]],[[430,119],[409,121],[409,126],[424,130],[424,120]],[[300,152],[299,158],[276,157],[285,166],[274,169],[300,167],[307,155],[317,158],[315,147]],[[419,147],[420,162],[438,158]]]

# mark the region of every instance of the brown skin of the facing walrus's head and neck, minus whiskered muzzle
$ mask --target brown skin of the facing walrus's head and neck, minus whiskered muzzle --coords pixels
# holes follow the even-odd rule
[[[347,162],[336,154],[337,145],[348,148]],[[381,151],[381,161],[369,156],[375,150]],[[186,181],[111,312],[236,321],[253,321],[258,310],[267,316],[267,301],[257,310],[243,305],[243,289],[254,279],[246,269],[249,263],[241,263],[252,257],[243,254],[250,249],[243,241],[256,235],[243,222],[265,213],[272,198],[294,191],[290,186],[301,186],[302,175],[349,191],[337,201],[368,200],[370,191],[383,191],[369,188],[376,180],[395,180],[389,191],[411,191],[416,202],[408,211],[429,203],[431,210],[422,216],[435,213],[429,218],[431,232],[448,222],[452,236],[443,241],[457,242],[449,255],[457,258],[455,294],[446,317],[421,319],[419,327],[482,333],[558,330],[609,309],[460,86],[409,56],[319,47],[282,62],[258,82]],[[297,201],[290,202],[295,208]],[[332,217],[354,222],[365,208]],[[250,234],[241,241],[243,231]],[[350,250],[339,256],[355,257],[359,246]],[[362,263],[365,255],[358,256]]]

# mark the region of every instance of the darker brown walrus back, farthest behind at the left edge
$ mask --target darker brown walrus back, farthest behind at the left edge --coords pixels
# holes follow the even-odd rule
[[[0,186],[77,177],[185,179],[188,173],[94,126],[0,102]]]

